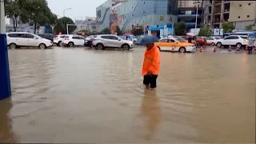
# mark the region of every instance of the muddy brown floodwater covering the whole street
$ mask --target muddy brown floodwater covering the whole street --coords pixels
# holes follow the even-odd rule
[[[161,52],[156,91],[142,86],[142,48],[9,55],[0,142],[255,142],[256,54]]]

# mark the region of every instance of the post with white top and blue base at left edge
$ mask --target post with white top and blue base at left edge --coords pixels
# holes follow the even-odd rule
[[[10,69],[6,42],[6,15],[4,1],[0,0],[0,100],[9,98]]]

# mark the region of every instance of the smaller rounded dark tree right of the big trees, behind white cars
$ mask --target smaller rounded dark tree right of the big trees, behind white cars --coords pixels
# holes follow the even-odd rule
[[[54,26],[55,33],[66,34],[66,24],[74,24],[71,18],[62,17],[58,18],[56,26]],[[69,26],[69,34],[73,33],[77,29],[77,26]]]

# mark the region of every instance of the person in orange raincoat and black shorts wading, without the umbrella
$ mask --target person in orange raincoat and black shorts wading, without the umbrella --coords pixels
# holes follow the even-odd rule
[[[154,43],[146,44],[142,66],[143,84],[146,88],[157,87],[157,78],[160,71],[160,50]]]

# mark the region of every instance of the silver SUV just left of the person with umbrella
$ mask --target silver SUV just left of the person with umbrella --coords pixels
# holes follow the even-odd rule
[[[130,50],[134,48],[134,42],[119,38],[114,34],[102,34],[93,38],[92,42],[95,49],[120,48],[122,50]]]

